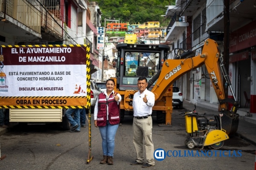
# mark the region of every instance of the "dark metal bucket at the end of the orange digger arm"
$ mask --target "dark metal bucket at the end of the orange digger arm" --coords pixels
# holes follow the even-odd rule
[[[221,117],[221,126],[222,129],[226,130],[226,133],[230,135],[234,135],[238,129],[239,124],[239,116],[236,118],[230,118],[229,116],[223,114]]]

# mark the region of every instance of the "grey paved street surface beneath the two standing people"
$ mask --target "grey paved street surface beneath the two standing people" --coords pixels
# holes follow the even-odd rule
[[[153,116],[154,148],[165,151],[172,150],[184,153],[188,150],[184,141],[186,139],[185,120],[179,113],[184,110],[174,110],[172,114],[172,127],[160,127]],[[88,115],[87,115],[88,116]],[[130,165],[135,160],[135,150],[132,142],[132,116],[126,116],[116,133],[116,147],[114,164],[99,164],[102,159],[101,136],[99,129],[92,126],[92,155],[93,160],[86,164],[88,156],[88,126],[81,128],[80,133],[70,133],[61,130],[54,124],[29,126],[22,129],[13,127],[10,132],[0,137],[1,154],[6,158],[0,161],[1,170],[82,170],[82,169],[113,169],[130,170],[143,169],[140,165]],[[88,125],[88,124],[87,124]],[[196,152],[199,148],[194,148]],[[202,157],[166,157],[163,161],[156,161],[151,170],[242,170],[254,168],[255,146],[232,136],[224,142],[218,150],[241,150],[240,157],[229,157],[228,152],[222,156]],[[191,151],[191,150],[190,150]],[[207,150],[208,151],[208,150]],[[210,151],[211,152],[211,151]],[[232,155],[232,153],[231,153]],[[238,156],[239,154],[237,154]],[[182,155],[180,155],[182,156]]]

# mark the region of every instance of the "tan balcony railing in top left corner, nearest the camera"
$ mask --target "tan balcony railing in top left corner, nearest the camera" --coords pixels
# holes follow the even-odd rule
[[[0,10],[32,30],[41,33],[41,12],[26,0],[0,0]]]

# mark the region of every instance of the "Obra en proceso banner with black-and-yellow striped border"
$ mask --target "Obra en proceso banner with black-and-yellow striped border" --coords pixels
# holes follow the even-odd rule
[[[87,108],[89,46],[2,45],[0,48],[0,108]]]

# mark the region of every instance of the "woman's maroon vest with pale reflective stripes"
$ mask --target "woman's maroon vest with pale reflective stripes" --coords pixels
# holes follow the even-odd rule
[[[107,125],[107,105],[109,123],[117,125],[120,122],[120,105],[117,105],[113,93],[110,94],[109,98],[104,93],[101,93],[98,98],[97,126]]]

